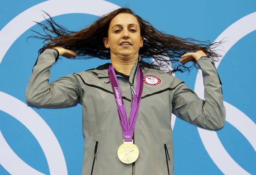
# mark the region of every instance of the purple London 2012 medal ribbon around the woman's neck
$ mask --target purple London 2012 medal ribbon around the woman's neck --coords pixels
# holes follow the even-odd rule
[[[124,141],[132,141],[132,136],[134,133],[134,128],[135,128],[135,124],[136,124],[138,112],[139,112],[139,104],[141,101],[141,95],[143,91],[142,70],[140,67],[138,68],[136,90],[135,90],[135,94],[133,95],[132,108],[131,108],[128,121],[127,121],[126,111],[124,108],[124,101],[122,98],[121,89],[120,89],[117,76],[112,64],[109,65],[108,74],[109,74],[109,80],[113,89],[113,93],[115,96],[116,104],[117,104],[117,111],[119,115],[120,126],[124,136]]]

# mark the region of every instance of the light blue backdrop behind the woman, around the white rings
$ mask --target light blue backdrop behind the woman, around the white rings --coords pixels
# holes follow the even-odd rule
[[[56,0],[54,0],[56,1]],[[2,1],[0,6],[0,50],[8,43],[9,37],[13,37],[22,26],[26,26],[26,22],[19,21],[19,16],[24,11],[28,11],[30,7],[45,2],[44,0],[26,0],[26,1]],[[98,1],[58,1],[58,5],[54,8],[60,11],[64,4],[77,5],[78,7],[87,8],[88,4],[97,4]],[[109,0],[109,2],[120,7],[130,7],[136,14],[143,19],[148,20],[156,27],[165,33],[180,36],[192,37],[198,40],[215,39],[230,25],[244,18],[246,15],[256,12],[256,1],[228,1],[228,0],[162,0],[162,1],[146,1],[146,0]],[[105,7],[98,6],[98,9]],[[44,8],[39,8],[45,10]],[[66,10],[68,12],[68,8]],[[47,11],[48,12],[48,11]],[[50,12],[49,12],[50,13]],[[33,15],[41,15],[41,11],[33,11],[30,14],[30,21]],[[12,19],[17,17],[15,26],[8,28],[5,35],[3,33],[4,27]],[[254,15],[255,17],[255,15]],[[57,15],[54,17],[56,22],[66,26],[70,30],[80,30],[93,22],[98,17],[95,15],[88,15],[82,13],[72,12],[71,14]],[[256,18],[247,25],[239,26],[241,30],[250,26],[255,26]],[[17,36],[15,42],[10,45],[7,52],[3,49],[0,53],[4,53],[0,61],[0,91],[19,99],[23,103],[25,100],[25,89],[28,79],[31,75],[31,69],[37,58],[38,49],[42,47],[42,42],[36,39],[26,38],[34,35],[31,30],[41,31],[41,29],[34,25],[27,28],[21,36]],[[226,122],[225,127],[218,131],[218,138],[226,149],[226,153],[230,155],[230,160],[235,161],[234,167],[220,166],[207,153],[206,147],[200,138],[196,127],[185,123],[181,119],[176,119],[175,127],[173,129],[174,139],[174,169],[176,175],[221,175],[228,172],[228,169],[241,167],[244,169],[244,174],[256,175],[256,29],[239,38],[233,47],[230,48],[219,64],[218,73],[223,84],[224,101],[233,105],[252,120],[252,127],[247,128],[241,123],[244,130],[247,128],[247,133],[252,133],[254,136],[250,140],[241,130],[237,129],[230,122]],[[236,33],[237,32],[237,33]],[[236,37],[240,30],[232,33]],[[232,38],[230,38],[232,39]],[[227,38],[226,40],[229,40]],[[84,71],[89,68],[97,67],[106,61],[92,59],[92,60],[68,60],[60,59],[52,68],[52,77],[50,81],[59,78],[65,74],[73,72]],[[176,76],[181,78],[188,86],[194,89],[197,71],[193,70],[190,74],[177,73]],[[6,101],[1,96],[0,105]],[[12,110],[20,110],[13,108]],[[50,129],[56,136],[57,141],[62,149],[66,167],[69,175],[79,175],[82,169],[83,159],[83,134],[82,134],[82,114],[81,105],[74,108],[67,109],[36,109],[33,108],[41,118],[49,125]],[[232,111],[230,112],[232,113]],[[235,112],[230,116],[230,120],[236,120]],[[237,114],[238,115],[238,114]],[[49,162],[39,144],[34,133],[31,133],[25,125],[18,119],[0,110],[0,132],[4,140],[14,153],[19,156],[23,162],[40,171],[43,174],[50,174]],[[42,131],[44,132],[44,131]],[[0,144],[3,144],[0,141]],[[250,140],[250,141],[249,141]],[[0,145],[0,149],[4,146]],[[2,149],[3,150],[3,149]],[[0,151],[1,153],[1,151]],[[218,150],[216,153],[218,154]],[[222,157],[222,155],[218,155]],[[8,157],[1,156],[0,163]],[[218,160],[216,160],[218,161]],[[6,162],[6,161],[5,161]],[[8,175],[11,169],[15,169],[14,160],[8,160],[10,166],[0,165],[0,175]],[[228,162],[228,161],[227,161]],[[21,172],[21,174],[23,174]]]

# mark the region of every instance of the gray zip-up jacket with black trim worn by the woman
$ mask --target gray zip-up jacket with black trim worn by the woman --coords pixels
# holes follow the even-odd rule
[[[49,84],[50,68],[58,52],[46,49],[33,67],[27,89],[27,104],[37,108],[83,107],[83,175],[173,175],[171,113],[208,130],[224,126],[222,85],[214,62],[197,61],[203,72],[205,101],[184,82],[165,72],[143,69],[143,75],[161,79],[155,86],[143,85],[142,100],[134,132],[139,158],[123,164],[117,149],[123,143],[117,107],[108,77],[109,63],[96,69],[69,74]],[[127,116],[131,110],[131,84],[136,87],[140,57],[128,79],[118,77]]]

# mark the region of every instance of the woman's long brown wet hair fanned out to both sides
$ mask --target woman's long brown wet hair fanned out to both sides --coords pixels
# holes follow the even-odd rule
[[[46,13],[46,12],[45,12]],[[61,46],[73,50],[78,53],[78,59],[98,57],[100,59],[110,59],[109,48],[105,48],[103,38],[108,37],[109,23],[120,13],[128,13],[134,15],[139,22],[141,36],[143,37],[143,47],[139,49],[139,55],[142,60],[142,67],[165,69],[169,73],[175,71],[189,71],[190,68],[196,67],[193,64],[186,67],[178,62],[180,57],[186,52],[196,52],[202,50],[209,58],[217,61],[218,53],[213,51],[220,42],[210,43],[210,41],[198,41],[192,38],[181,38],[169,34],[163,34],[155,29],[149,22],[143,20],[129,8],[118,8],[107,15],[100,17],[89,27],[80,31],[70,31],[63,26],[57,24],[53,18],[49,16],[46,23],[38,23],[45,34],[39,36],[31,36],[44,40],[47,43],[39,49],[41,54],[46,48]],[[35,32],[35,31],[34,31]],[[169,58],[169,59],[166,59]],[[154,61],[149,59],[154,58]]]

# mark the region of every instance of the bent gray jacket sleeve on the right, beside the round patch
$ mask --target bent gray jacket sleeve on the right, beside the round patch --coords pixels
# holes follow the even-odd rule
[[[205,100],[200,99],[185,83],[181,83],[173,94],[173,114],[197,127],[220,130],[226,119],[222,83],[213,60],[202,57],[197,64],[203,74]]]

